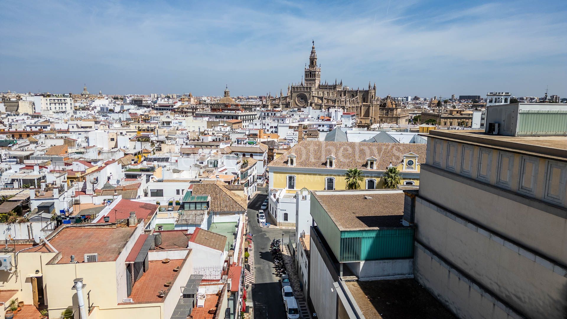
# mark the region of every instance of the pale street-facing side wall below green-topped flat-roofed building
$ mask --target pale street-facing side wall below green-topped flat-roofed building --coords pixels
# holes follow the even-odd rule
[[[311,237],[310,298],[318,318],[337,317],[337,297],[332,294],[333,278]],[[334,289],[334,288],[333,288]]]

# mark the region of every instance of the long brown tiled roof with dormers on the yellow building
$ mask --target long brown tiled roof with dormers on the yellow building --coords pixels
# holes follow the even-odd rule
[[[426,144],[366,143],[301,141],[293,148],[269,163],[269,166],[287,166],[287,156],[295,154],[294,167],[327,168],[327,157],[335,156],[335,169],[357,168],[367,170],[367,158],[375,157],[376,169],[385,171],[388,165],[396,165],[404,154],[417,154],[417,162],[425,163]]]

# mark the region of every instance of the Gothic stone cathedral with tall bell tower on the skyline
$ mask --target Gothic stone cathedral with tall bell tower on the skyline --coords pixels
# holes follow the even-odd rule
[[[368,89],[353,89],[337,83],[321,83],[321,66],[317,65],[315,42],[311,47],[309,65],[305,66],[304,77],[300,83],[287,86],[287,95],[283,90],[280,97],[270,96],[266,99],[266,107],[286,110],[289,108],[312,107],[317,110],[342,108],[345,112],[356,112],[358,126],[369,127],[378,123],[378,107],[380,98],[376,96],[376,83],[368,83]]]

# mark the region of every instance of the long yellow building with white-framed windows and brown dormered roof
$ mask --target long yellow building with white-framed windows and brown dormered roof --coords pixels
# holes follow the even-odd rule
[[[425,153],[425,144],[302,141],[268,165],[269,185],[290,194],[303,187],[345,190],[345,174],[356,168],[361,189],[383,188],[384,173],[396,167],[400,184],[418,186]]]

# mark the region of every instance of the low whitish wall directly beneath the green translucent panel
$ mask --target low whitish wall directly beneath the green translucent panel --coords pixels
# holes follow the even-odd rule
[[[349,267],[359,280],[409,278],[413,275],[413,258],[350,262],[345,263],[345,266]]]

